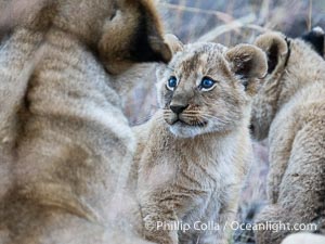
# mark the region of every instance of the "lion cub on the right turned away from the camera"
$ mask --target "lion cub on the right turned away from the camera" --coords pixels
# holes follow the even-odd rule
[[[271,164],[270,205],[257,221],[281,221],[291,227],[312,222],[322,229],[325,227],[325,62],[302,40],[287,41],[289,46],[278,33],[264,34],[256,41],[269,56],[269,75],[253,101],[251,124],[257,139],[269,134]],[[257,243],[277,244],[290,232],[295,231],[261,230],[257,232]]]

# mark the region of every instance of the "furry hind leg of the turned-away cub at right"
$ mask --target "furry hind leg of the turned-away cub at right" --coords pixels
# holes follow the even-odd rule
[[[315,128],[322,127],[306,125],[294,140],[278,201],[257,218],[258,223],[277,223],[281,229],[258,230],[258,244],[278,244],[290,233],[316,231],[316,222],[325,216],[325,133]]]

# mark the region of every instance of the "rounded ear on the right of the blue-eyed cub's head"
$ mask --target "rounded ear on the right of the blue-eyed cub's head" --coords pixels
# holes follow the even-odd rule
[[[245,90],[257,92],[257,80],[266,74],[268,63],[264,52],[251,44],[237,44],[225,52],[231,70],[240,78]]]

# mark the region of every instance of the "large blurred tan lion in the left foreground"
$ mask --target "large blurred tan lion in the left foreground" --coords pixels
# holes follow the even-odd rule
[[[145,243],[132,195],[113,198],[135,146],[132,65],[171,55],[154,5],[40,2],[0,50],[0,243]]]

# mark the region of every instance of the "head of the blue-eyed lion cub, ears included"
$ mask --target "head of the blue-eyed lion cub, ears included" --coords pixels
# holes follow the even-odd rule
[[[159,103],[170,131],[182,138],[227,132],[249,114],[266,59],[253,46],[170,44],[176,52],[157,72]]]

